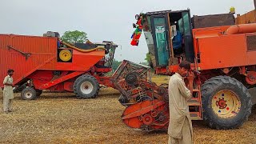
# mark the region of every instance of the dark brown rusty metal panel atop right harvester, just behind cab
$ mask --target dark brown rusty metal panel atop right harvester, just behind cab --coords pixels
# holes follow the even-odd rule
[[[230,26],[235,24],[233,14],[194,15],[191,18],[194,29],[214,26]]]

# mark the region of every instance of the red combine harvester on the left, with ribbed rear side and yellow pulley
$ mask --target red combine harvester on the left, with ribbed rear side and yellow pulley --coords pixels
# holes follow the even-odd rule
[[[113,42],[71,46],[61,42],[56,32],[44,36],[48,37],[0,34],[0,79],[6,70],[15,70],[14,85],[23,99],[37,98],[42,90],[74,91],[78,98],[95,98],[99,84],[113,87],[105,77],[112,70],[117,47]]]

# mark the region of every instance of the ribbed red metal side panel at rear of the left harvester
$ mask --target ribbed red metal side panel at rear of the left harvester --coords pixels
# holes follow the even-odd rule
[[[26,58],[22,53],[30,56]],[[14,69],[14,84],[22,82],[56,53],[57,38],[0,34],[0,80],[8,69]]]

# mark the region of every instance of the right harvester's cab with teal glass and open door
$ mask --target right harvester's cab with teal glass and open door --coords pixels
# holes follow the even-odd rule
[[[144,19],[150,66],[172,66],[184,60],[194,62],[190,10],[148,12]]]

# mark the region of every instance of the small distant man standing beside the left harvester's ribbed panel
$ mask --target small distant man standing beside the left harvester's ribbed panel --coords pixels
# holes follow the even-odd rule
[[[13,91],[13,78],[14,70],[8,70],[8,75],[3,80],[3,111],[5,113],[11,112],[11,101],[14,99],[14,91]]]

